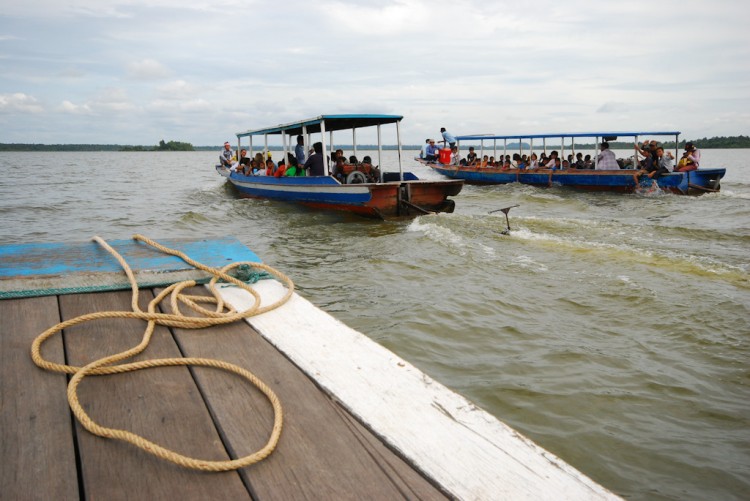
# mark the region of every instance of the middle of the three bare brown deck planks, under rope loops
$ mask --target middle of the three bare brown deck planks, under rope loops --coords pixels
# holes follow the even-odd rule
[[[141,308],[152,299],[141,292]],[[93,312],[130,310],[128,292],[60,297],[64,319]],[[140,341],[145,322],[98,320],[65,331],[70,363],[83,365]],[[168,329],[157,327],[136,359],[179,357]],[[85,379],[81,403],[104,426],[127,429],[190,457],[223,460],[226,451],[186,367],[156,368]],[[92,499],[247,499],[237,472],[202,473],[156,458],[124,442],[104,439],[76,425],[86,497]]]

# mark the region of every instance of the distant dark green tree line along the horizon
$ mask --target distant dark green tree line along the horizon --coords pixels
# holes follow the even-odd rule
[[[718,149],[718,148],[750,148],[750,137],[740,136],[718,136],[703,139],[691,139],[682,140],[678,144],[674,141],[665,141],[662,145],[665,148],[682,148],[685,143],[692,142],[698,148],[703,149]],[[610,147],[614,149],[625,149],[632,148],[632,142],[623,141],[610,141]],[[508,144],[509,150],[518,149],[521,145],[519,143]],[[524,148],[528,148],[527,143],[523,144]],[[350,144],[334,145],[334,148],[348,149]],[[401,148],[404,150],[419,150],[422,147],[421,144],[410,144],[402,145]],[[547,148],[554,147],[552,144],[548,144]],[[595,148],[595,144],[576,143],[576,148]],[[222,146],[193,146],[190,143],[180,141],[167,141],[163,139],[159,141],[156,146],[139,146],[139,145],[121,145],[121,144],[37,144],[37,143],[0,143],[0,151],[213,151],[220,150]],[[358,145],[358,150],[377,150],[376,144],[365,144]],[[281,151],[281,146],[270,146],[270,150]],[[397,145],[383,145],[384,150],[396,150]]]

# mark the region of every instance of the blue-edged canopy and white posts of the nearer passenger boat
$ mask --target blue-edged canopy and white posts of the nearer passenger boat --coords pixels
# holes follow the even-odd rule
[[[287,158],[287,154],[290,153],[291,149],[291,138],[293,136],[299,136],[301,135],[304,140],[304,147],[305,152],[307,153],[310,149],[310,135],[311,134],[320,134],[321,136],[321,142],[323,143],[323,155],[326,155],[328,158],[331,158],[332,155],[327,155],[326,148],[326,131],[330,135],[330,139],[328,141],[328,144],[330,145],[330,153],[333,153],[334,143],[333,143],[333,133],[334,131],[340,131],[340,130],[351,130],[352,131],[352,149],[354,151],[354,154],[357,154],[357,129],[365,128],[365,127],[377,127],[377,134],[378,134],[378,165],[381,166],[380,169],[380,182],[383,182],[383,170],[382,169],[382,141],[381,141],[381,135],[380,135],[380,126],[381,125],[388,125],[388,124],[396,124],[396,140],[398,143],[398,170],[399,170],[399,176],[400,179],[403,181],[404,179],[404,171],[403,166],[401,162],[402,158],[402,147],[401,147],[401,131],[400,131],[400,123],[401,120],[403,120],[402,115],[382,115],[382,114],[346,114],[346,115],[319,115],[317,117],[308,118],[305,120],[298,120],[296,122],[290,122],[287,124],[279,124],[274,125],[271,127],[264,127],[261,129],[251,129],[246,130],[243,132],[237,132],[235,135],[237,136],[237,149],[242,148],[242,138],[247,137],[249,139],[249,150],[248,153],[250,156],[252,156],[253,153],[253,137],[255,136],[263,136],[264,138],[264,153],[267,153],[268,150],[268,136],[281,136],[282,138],[282,149],[283,149],[283,157]],[[287,143],[287,137],[289,137],[289,142]],[[289,147],[289,148],[288,148]],[[329,162],[324,162],[324,169],[325,169],[325,175],[331,174],[331,166],[329,165]]]

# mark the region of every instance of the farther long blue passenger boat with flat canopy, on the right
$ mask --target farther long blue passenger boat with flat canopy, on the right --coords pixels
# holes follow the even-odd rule
[[[565,158],[567,153],[576,153],[576,139],[588,138],[594,139],[598,145],[601,141],[614,141],[618,137],[633,138],[633,143],[638,143],[639,137],[653,136],[672,136],[675,144],[679,144],[680,132],[589,132],[589,133],[557,133],[557,134],[526,134],[526,135],[467,135],[457,136],[459,150],[461,144],[478,143],[479,159],[475,165],[449,165],[439,161],[428,162],[423,159],[417,159],[431,167],[436,172],[452,178],[461,179],[472,184],[508,184],[522,183],[534,186],[567,186],[577,189],[590,191],[612,191],[632,193],[639,188],[651,187],[654,183],[668,192],[681,195],[696,195],[702,193],[718,192],[721,188],[721,178],[726,174],[725,168],[712,168],[687,171],[687,172],[670,172],[661,175],[658,179],[651,179],[647,176],[636,177],[636,170],[633,165],[638,165],[637,153],[634,152],[633,158],[619,160],[621,168],[618,170],[597,170],[596,155],[594,155],[594,165],[589,169],[551,169],[551,168],[534,168],[519,169],[515,166],[503,168],[501,165],[481,165],[484,155],[492,154],[497,157],[498,146],[501,146],[500,154],[504,157],[511,153],[520,155],[527,154],[531,156],[535,152],[547,152],[547,140],[554,139],[556,144],[560,144],[560,158]],[[566,150],[566,140],[570,140]],[[671,137],[670,137],[671,139]],[[517,148],[513,151],[508,149],[508,141],[517,142]],[[534,149],[534,140],[541,140],[542,147]],[[502,141],[498,145],[498,141]],[[472,145],[473,145],[472,144]],[[539,144],[539,143],[537,143]],[[555,147],[557,148],[557,146]],[[447,157],[447,155],[446,155]],[[680,158],[679,152],[675,150],[675,159]],[[676,163],[676,160],[675,160]]]

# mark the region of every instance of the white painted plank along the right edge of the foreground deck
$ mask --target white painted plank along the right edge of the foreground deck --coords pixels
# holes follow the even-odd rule
[[[254,285],[263,304],[274,280]],[[238,310],[247,292],[226,287]],[[294,294],[248,322],[374,433],[459,499],[620,499],[466,398]],[[283,402],[282,402],[283,404]]]

